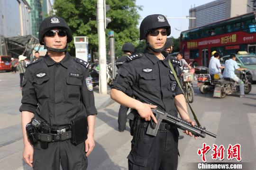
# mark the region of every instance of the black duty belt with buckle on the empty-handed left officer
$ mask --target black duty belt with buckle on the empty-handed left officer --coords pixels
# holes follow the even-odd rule
[[[71,139],[71,130],[69,128],[64,128],[61,130],[51,130],[50,134],[42,134],[39,132],[36,132],[36,139],[41,142],[56,142],[56,141],[65,141],[68,139]]]

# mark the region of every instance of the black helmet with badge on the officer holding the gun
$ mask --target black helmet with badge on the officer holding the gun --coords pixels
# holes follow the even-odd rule
[[[165,16],[160,14],[149,15],[144,18],[139,27],[139,40],[143,40],[146,37],[146,34],[157,28],[166,28],[167,36],[171,34],[171,26],[169,25]]]

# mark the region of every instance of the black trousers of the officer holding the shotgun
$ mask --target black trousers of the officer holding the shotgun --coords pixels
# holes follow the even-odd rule
[[[176,128],[158,130],[156,136],[140,128],[139,139],[128,155],[129,170],[177,170],[178,136]]]

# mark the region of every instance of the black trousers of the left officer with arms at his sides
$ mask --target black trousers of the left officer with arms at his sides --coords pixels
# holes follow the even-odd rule
[[[84,142],[73,145],[70,140],[48,143],[42,149],[40,143],[34,146],[34,170],[86,170],[88,166]]]

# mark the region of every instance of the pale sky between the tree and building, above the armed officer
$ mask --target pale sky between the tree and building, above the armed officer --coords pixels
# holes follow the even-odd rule
[[[189,15],[189,9],[212,2],[214,0],[136,0],[137,5],[143,6],[142,11],[138,11],[139,15],[145,18],[151,14],[163,14],[167,17],[186,17]],[[139,25],[142,19],[139,20]],[[187,30],[189,27],[188,19],[168,19],[171,25],[171,36],[178,38],[181,31]],[[176,29],[175,29],[176,28]]]

